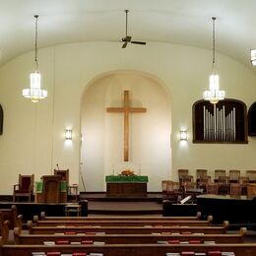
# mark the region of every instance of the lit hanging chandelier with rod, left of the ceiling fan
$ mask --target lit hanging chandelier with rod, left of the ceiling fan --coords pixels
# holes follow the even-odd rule
[[[38,71],[37,60],[37,21],[38,15],[34,15],[35,18],[35,40],[34,40],[34,64],[35,71],[31,73],[31,87],[23,90],[23,96],[30,98],[32,102],[37,102],[39,99],[47,96],[47,91],[41,89],[41,74]]]

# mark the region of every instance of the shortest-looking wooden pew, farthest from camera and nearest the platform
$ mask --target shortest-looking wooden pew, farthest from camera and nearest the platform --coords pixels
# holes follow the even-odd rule
[[[38,221],[38,217],[34,217],[34,221]],[[196,216],[191,217],[162,217],[162,216],[143,216],[143,217],[125,217],[125,216],[116,216],[116,217],[47,217],[45,216],[45,212],[41,212],[40,219],[42,221],[161,221],[161,220],[171,220],[171,221],[199,221],[201,220],[201,212],[198,212]]]

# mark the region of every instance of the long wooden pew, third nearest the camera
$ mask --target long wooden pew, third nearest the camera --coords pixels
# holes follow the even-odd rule
[[[223,226],[33,226],[32,222],[28,224],[29,232],[31,234],[53,234],[53,233],[65,233],[67,231],[73,231],[76,233],[85,232],[105,232],[112,234],[120,233],[161,233],[161,232],[192,232],[192,233],[226,233],[228,222],[224,222]]]

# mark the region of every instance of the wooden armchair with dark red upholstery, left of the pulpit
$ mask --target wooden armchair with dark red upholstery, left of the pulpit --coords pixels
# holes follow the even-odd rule
[[[28,197],[29,202],[32,201],[32,191],[33,191],[33,180],[32,175],[22,175],[19,174],[19,184],[14,185],[13,201],[20,197]]]

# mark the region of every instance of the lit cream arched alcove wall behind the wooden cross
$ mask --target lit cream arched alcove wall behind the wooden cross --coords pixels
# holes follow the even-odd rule
[[[129,114],[129,161],[123,159],[123,113],[107,107],[123,105],[129,91],[132,107],[146,113]],[[159,191],[160,181],[170,177],[170,96],[157,78],[137,71],[103,74],[87,87],[81,105],[81,173],[87,191],[105,190],[105,175],[118,174],[128,166],[148,175],[148,191]]]

